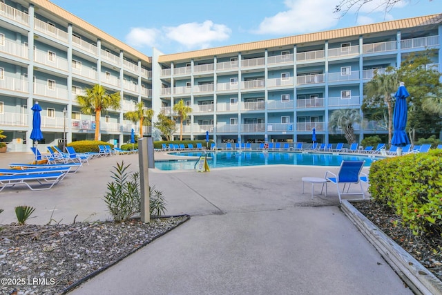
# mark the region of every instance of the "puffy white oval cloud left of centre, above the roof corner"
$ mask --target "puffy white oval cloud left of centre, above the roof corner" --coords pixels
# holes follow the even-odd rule
[[[166,37],[186,48],[208,48],[213,41],[229,39],[231,29],[225,25],[204,21],[203,23],[183,23],[176,27],[164,27]]]

